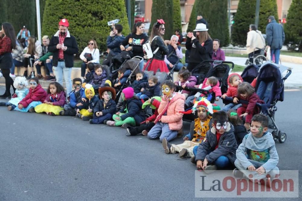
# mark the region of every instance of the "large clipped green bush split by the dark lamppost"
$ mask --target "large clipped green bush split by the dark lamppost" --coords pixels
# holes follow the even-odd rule
[[[255,24],[256,0],[240,0],[234,16],[232,29],[232,44],[246,46],[246,36],[249,25]],[[258,30],[265,33],[267,19],[270,15],[278,20],[276,0],[260,1]]]

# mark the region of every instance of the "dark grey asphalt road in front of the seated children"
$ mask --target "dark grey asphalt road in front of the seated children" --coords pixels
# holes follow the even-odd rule
[[[285,101],[278,103],[275,120],[288,135],[284,144],[276,143],[281,170],[302,169],[301,98],[301,91],[289,91]],[[189,159],[165,154],[159,140],[126,137],[120,127],[6,107],[0,107],[0,121],[1,201],[201,200],[194,197],[196,167]],[[188,132],[189,124],[184,126]],[[299,178],[301,191],[301,174]]]

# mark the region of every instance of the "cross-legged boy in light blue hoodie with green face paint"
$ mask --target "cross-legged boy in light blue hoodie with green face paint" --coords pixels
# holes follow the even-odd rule
[[[265,179],[270,186],[270,177],[279,174],[277,167],[279,156],[275,147],[275,141],[268,132],[268,118],[265,115],[254,115],[251,122],[251,132],[247,134],[236,151],[235,177],[248,177],[253,175],[255,180]],[[237,169],[238,168],[238,169]]]

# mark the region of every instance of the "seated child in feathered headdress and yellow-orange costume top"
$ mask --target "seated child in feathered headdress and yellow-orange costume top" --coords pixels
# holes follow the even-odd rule
[[[180,158],[194,157],[193,148],[198,146],[204,140],[207,131],[212,124],[213,106],[205,97],[196,101],[191,110],[185,111],[185,114],[197,111],[198,118],[191,122],[190,133],[185,136],[182,144],[169,144],[166,139],[162,140],[162,146],[166,154],[179,152]]]

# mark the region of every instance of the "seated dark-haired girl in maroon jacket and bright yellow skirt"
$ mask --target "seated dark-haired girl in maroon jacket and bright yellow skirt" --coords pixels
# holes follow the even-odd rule
[[[51,82],[47,89],[47,98],[44,103],[37,105],[35,111],[37,113],[45,112],[47,115],[59,115],[63,111],[66,104],[66,94],[64,88],[58,82]]]

